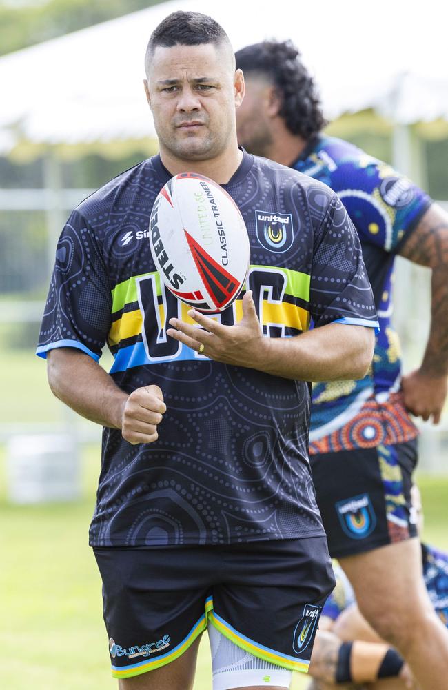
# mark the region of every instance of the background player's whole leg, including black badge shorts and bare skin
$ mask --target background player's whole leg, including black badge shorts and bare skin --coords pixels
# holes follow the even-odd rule
[[[400,651],[422,690],[434,690],[448,677],[448,632],[429,602],[413,538],[415,463],[415,444],[406,442],[314,455],[312,473],[329,551],[354,586],[360,611]]]

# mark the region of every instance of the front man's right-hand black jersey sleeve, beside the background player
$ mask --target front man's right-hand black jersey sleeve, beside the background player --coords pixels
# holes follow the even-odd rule
[[[336,195],[315,235],[309,306],[315,327],[340,322],[378,328],[360,241]]]

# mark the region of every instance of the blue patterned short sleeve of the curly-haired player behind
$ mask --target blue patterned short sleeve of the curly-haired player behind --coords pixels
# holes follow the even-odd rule
[[[391,166],[368,160],[365,166],[343,166],[335,174],[343,175],[343,180],[338,180],[334,189],[360,239],[388,253],[398,253],[431,205],[431,198]]]

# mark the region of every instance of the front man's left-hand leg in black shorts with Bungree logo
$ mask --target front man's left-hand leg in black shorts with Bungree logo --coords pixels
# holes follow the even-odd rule
[[[121,690],[188,690],[216,553],[184,549],[94,549],[112,676]]]

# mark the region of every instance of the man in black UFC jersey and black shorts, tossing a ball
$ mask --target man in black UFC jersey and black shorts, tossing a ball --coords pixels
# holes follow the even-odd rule
[[[191,688],[207,623],[215,690],[287,688],[334,585],[308,381],[365,375],[373,295],[332,190],[238,149],[244,81],[216,22],[171,14],[146,72],[160,154],[70,215],[38,354],[55,395],[104,427],[90,544],[121,689]],[[250,237],[245,290],[213,319],[164,289],[147,237],[159,190],[185,171],[223,185]]]

